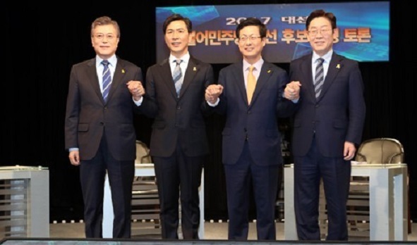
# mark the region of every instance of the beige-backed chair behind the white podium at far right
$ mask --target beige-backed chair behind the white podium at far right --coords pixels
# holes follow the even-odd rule
[[[397,139],[375,138],[365,140],[358,148],[355,161],[368,164],[404,163],[404,147]],[[409,179],[407,176],[407,193]],[[408,196],[408,195],[407,195]],[[408,203],[408,232],[411,233],[410,202]],[[348,199],[349,235],[369,234],[369,181],[368,177],[352,177]]]

